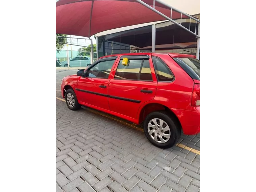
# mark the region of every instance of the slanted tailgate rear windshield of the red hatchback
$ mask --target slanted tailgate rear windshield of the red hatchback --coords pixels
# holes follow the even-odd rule
[[[173,58],[193,79],[200,81],[200,61],[195,58]]]

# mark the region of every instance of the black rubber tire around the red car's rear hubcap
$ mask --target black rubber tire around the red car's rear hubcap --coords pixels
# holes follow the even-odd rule
[[[165,143],[159,143],[157,141],[154,141],[154,139],[148,133],[148,123],[154,118],[164,120],[170,128],[171,136],[170,136],[170,139]],[[177,120],[173,118],[171,115],[169,115],[168,113],[166,113],[166,111],[155,111],[148,114],[148,116],[146,117],[144,121],[144,133],[147,139],[154,146],[166,149],[174,146],[178,142],[181,134],[181,127],[180,127],[180,124],[177,122]]]

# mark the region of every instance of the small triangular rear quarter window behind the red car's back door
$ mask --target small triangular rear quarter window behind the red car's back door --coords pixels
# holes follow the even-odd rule
[[[157,73],[158,81],[173,81],[174,75],[172,74],[169,67],[158,57],[152,57],[155,67],[155,72]]]

